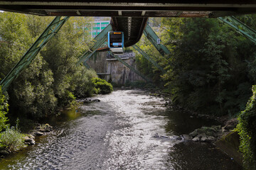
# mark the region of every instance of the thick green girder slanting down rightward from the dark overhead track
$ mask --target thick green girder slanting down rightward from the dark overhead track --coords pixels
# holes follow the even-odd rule
[[[149,26],[149,24],[146,24],[146,28],[144,29],[143,33],[146,36],[146,38],[149,39],[152,45],[156,47],[156,50],[158,50],[162,56],[171,54],[171,52],[165,45],[157,44],[157,40],[159,39],[159,37],[156,35],[154,30]]]

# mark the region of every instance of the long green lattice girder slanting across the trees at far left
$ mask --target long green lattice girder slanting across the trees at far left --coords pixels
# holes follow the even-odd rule
[[[40,35],[40,37],[33,43],[29,50],[21,57],[21,60],[11,69],[11,72],[4,77],[0,82],[2,90],[6,91],[12,81],[14,81],[21,72],[28,67],[29,64],[35,59],[36,55],[40,50],[50,41],[53,36],[58,33],[58,30],[63,26],[63,24],[68,21],[68,16],[62,17],[57,16],[53,21],[48,25],[46,30]]]

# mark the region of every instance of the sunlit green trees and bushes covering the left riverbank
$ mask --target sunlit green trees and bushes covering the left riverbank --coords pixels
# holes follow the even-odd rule
[[[0,79],[4,79],[52,19],[0,13]],[[112,85],[98,79],[95,71],[76,65],[78,57],[90,46],[90,34],[82,28],[89,27],[91,21],[92,18],[70,18],[8,91],[2,94],[0,89],[1,154],[24,145],[25,135],[15,123],[17,118],[21,130],[29,130],[28,126],[42,118],[74,105],[75,98],[112,91]]]

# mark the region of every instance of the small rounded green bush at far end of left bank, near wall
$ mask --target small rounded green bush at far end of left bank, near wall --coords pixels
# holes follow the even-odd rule
[[[92,78],[92,82],[95,84],[96,94],[110,94],[113,91],[112,84],[105,81],[105,79]]]

